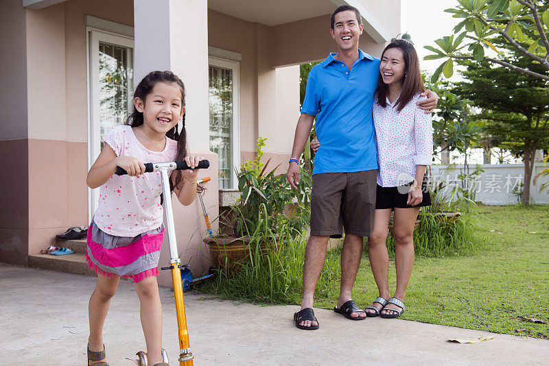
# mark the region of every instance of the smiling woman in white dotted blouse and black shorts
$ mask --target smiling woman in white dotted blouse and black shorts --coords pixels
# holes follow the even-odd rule
[[[379,171],[368,254],[379,297],[371,306],[366,306],[368,317],[395,318],[406,310],[406,287],[414,264],[414,223],[419,208],[431,204],[423,177],[432,162],[432,121],[430,114],[425,114],[416,104],[423,91],[414,47],[406,40],[391,42],[382,53],[379,88],[373,106]],[[314,139],[311,147],[316,151],[319,146]],[[397,288],[391,297],[386,239],[393,210]]]

